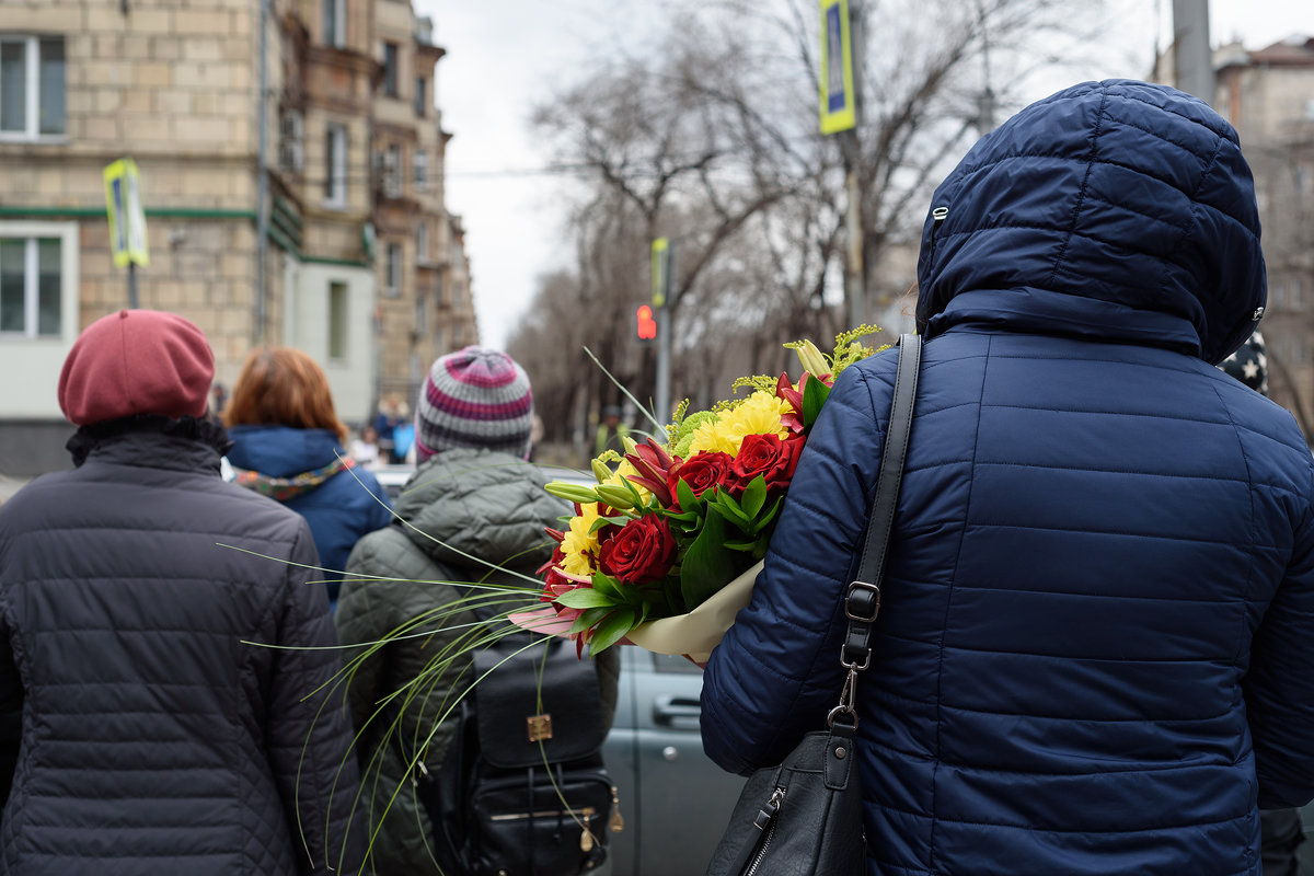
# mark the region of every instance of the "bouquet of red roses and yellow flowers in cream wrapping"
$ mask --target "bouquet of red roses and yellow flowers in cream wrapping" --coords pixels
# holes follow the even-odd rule
[[[803,373],[791,381],[750,377],[748,394],[690,412],[665,444],[625,440],[625,453],[593,460],[595,486],[555,481],[574,503],[557,548],[540,569],[547,603],[514,612],[526,629],[566,636],[598,653],[618,642],[703,663],[748,604],[808,431],[834,378],[876,352],[861,326],[824,355],[812,341],[787,344]]]

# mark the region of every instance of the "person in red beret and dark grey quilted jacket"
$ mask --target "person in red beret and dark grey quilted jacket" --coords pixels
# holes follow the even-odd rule
[[[0,507],[0,869],[357,872],[352,728],[305,520],[219,477],[214,356],[176,314],[92,323],[75,468]]]

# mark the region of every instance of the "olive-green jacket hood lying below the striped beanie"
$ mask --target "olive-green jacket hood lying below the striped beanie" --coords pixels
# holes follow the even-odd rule
[[[532,575],[552,554],[544,525],[570,514],[569,504],[543,490],[548,481],[510,453],[457,448],[420,465],[394,511],[410,524],[402,527],[406,537],[435,562],[460,570],[463,580],[489,571],[472,557]]]

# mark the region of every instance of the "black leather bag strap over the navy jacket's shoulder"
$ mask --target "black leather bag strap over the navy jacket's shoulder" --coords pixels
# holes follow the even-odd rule
[[[903,335],[899,339],[899,370],[895,374],[890,426],[880,454],[880,473],[876,475],[876,493],[871,500],[871,517],[867,520],[867,540],[862,548],[858,577],[849,584],[844,603],[849,629],[840,651],[840,665],[848,676],[840,692],[840,705],[830,709],[830,714],[827,716],[832,739],[827,746],[825,774],[827,785],[832,788],[842,787],[848,781],[848,764],[853,762],[853,758],[845,758],[844,741],[851,741],[858,729],[855,705],[858,672],[871,666],[871,625],[880,612],[880,582],[884,579],[886,552],[890,546],[890,532],[894,529],[895,508],[899,506],[899,485],[903,481],[908,436],[912,432],[912,407],[917,399],[920,365],[921,335]],[[842,737],[838,746],[837,737]]]

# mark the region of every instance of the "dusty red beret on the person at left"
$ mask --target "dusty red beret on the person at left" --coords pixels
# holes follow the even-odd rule
[[[120,310],[78,338],[59,374],[59,407],[74,426],[133,414],[202,416],[214,353],[196,323],[159,310]]]

